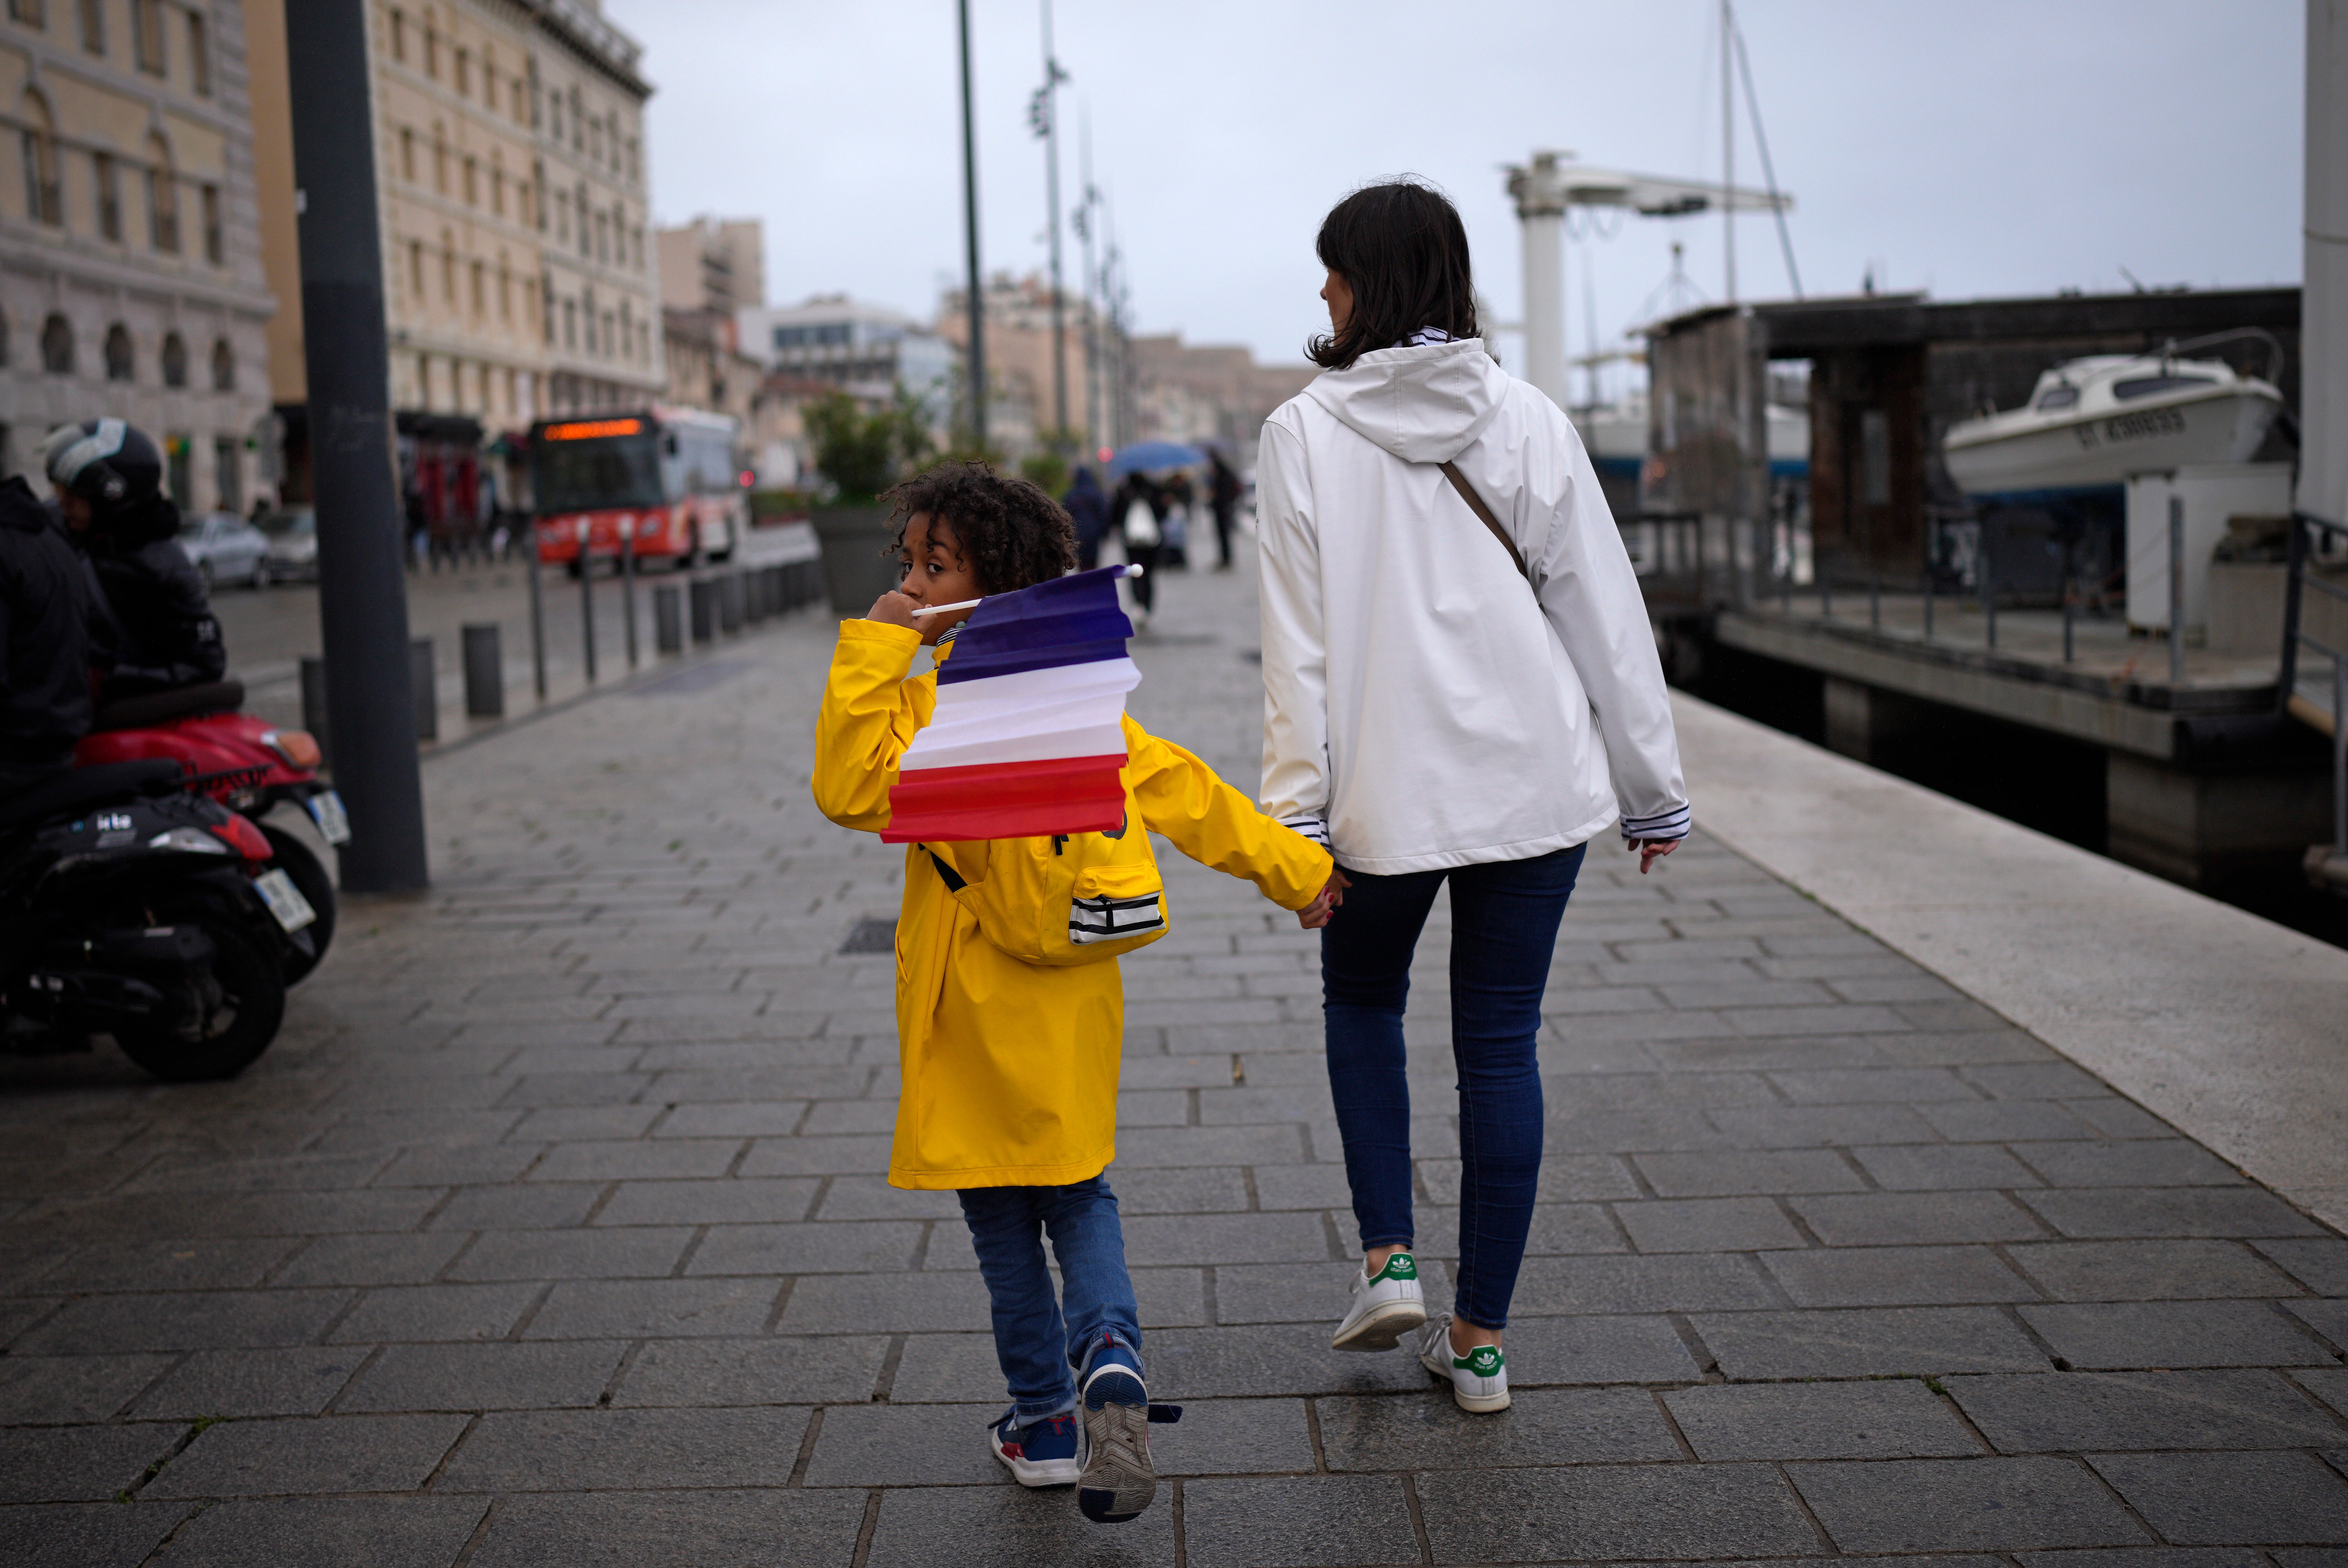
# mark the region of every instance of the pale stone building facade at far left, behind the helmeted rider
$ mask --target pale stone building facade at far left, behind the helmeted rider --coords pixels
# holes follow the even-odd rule
[[[12,0],[0,16],[0,469],[124,418],[188,509],[249,505],[270,282],[235,0]]]

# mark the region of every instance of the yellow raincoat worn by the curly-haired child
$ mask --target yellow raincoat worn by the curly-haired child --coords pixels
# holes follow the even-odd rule
[[[812,779],[815,803],[841,826],[888,826],[897,761],[937,711],[937,676],[906,678],[918,648],[918,631],[841,622],[815,721]],[[1329,883],[1327,850],[1261,815],[1181,746],[1127,718],[1125,753],[1141,824],[1190,859],[1247,878],[1282,908],[1303,908]],[[1115,960],[1043,967],[1012,958],[946,892],[932,852],[977,883],[989,845],[906,845],[897,915],[904,1091],[890,1185],[1026,1188],[1099,1176],[1118,1155],[1125,984]]]

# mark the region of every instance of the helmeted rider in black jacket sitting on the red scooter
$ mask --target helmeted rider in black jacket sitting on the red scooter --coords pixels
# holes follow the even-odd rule
[[[54,430],[45,458],[99,584],[101,702],[218,681],[228,669],[221,622],[178,545],[155,441],[122,420],[82,420]]]

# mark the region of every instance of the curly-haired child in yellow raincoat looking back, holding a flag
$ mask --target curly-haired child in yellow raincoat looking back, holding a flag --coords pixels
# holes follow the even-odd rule
[[[890,824],[899,758],[937,709],[937,674],[906,678],[913,653],[930,643],[949,660],[967,617],[913,610],[1017,592],[1075,566],[1068,514],[1024,479],[942,465],[890,500],[904,519],[904,584],[869,620],[841,622],[815,728],[815,800],[841,826],[866,831]],[[1327,922],[1327,850],[1132,718],[1125,749],[1127,822],[1139,812],[1143,829],[1183,854],[1256,883],[1308,925]],[[1141,1324],[1118,1199],[1101,1174],[1115,1157],[1125,988],[1115,960],[1045,967],[1012,958],[956,899],[986,878],[989,854],[1043,854],[1043,845],[1054,840],[906,845],[897,915],[904,1089],[888,1178],[953,1188],[963,1199],[1012,1394],[993,1425],[996,1458],[1021,1486],[1073,1481],[1085,1516],[1115,1523],[1158,1491]],[[1052,1239],[1066,1300],[1054,1300],[1040,1235]]]

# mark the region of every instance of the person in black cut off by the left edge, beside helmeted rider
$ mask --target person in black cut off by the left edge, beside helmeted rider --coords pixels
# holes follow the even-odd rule
[[[73,765],[89,732],[89,582],[23,479],[0,484],[0,800]]]

